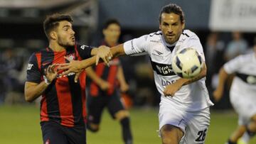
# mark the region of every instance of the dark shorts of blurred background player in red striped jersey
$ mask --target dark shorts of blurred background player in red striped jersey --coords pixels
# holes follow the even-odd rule
[[[117,91],[111,96],[101,92],[98,96],[87,96],[87,121],[99,124],[102,111],[107,107],[112,118],[118,111],[124,110],[124,105]]]

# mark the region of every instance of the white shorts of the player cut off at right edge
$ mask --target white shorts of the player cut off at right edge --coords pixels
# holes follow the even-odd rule
[[[230,92],[230,102],[238,113],[238,125],[247,125],[256,114],[256,96],[246,96],[238,92]]]

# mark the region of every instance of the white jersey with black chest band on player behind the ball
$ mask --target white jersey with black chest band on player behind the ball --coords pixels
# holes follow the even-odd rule
[[[198,36],[188,30],[183,31],[174,45],[165,42],[161,31],[143,35],[124,43],[124,52],[127,55],[142,52],[149,55],[156,87],[161,94],[161,103],[169,103],[185,111],[198,111],[213,105],[206,89],[205,78],[181,87],[173,97],[164,96],[163,93],[168,84],[176,82],[180,78],[172,70],[171,60],[178,50],[184,48],[195,48],[205,61],[203,47]]]

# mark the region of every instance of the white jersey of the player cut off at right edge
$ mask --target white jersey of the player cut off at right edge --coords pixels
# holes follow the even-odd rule
[[[256,56],[254,52],[235,57],[225,63],[224,70],[228,74],[235,73],[231,92],[256,99]]]

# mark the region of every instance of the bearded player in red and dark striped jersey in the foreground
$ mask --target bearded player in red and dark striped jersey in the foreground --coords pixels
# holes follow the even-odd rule
[[[90,48],[75,43],[72,22],[65,14],[47,16],[43,28],[48,48],[34,52],[28,62],[25,99],[31,102],[42,95],[41,130],[47,144],[86,143],[85,72],[74,82],[75,73],[61,75],[58,64],[92,55],[104,60],[111,56],[105,46]]]

